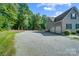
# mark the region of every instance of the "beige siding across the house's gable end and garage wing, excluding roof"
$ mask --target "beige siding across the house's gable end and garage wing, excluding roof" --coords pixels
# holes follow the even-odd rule
[[[76,19],[71,19],[71,14],[76,14]],[[75,9],[71,9],[71,11],[64,17],[64,19],[58,22],[51,22],[48,21],[47,29],[51,32],[61,33],[64,32],[66,29],[66,24],[72,24],[71,31],[76,31],[76,24],[79,24],[79,12]]]

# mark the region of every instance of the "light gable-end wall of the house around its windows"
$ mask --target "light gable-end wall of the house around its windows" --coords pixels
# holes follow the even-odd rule
[[[71,19],[71,14],[76,13],[76,19]],[[75,10],[71,10],[68,15],[66,15],[62,21],[62,32],[64,32],[66,29],[66,24],[72,24],[71,31],[75,31],[75,24],[79,24],[79,13]]]

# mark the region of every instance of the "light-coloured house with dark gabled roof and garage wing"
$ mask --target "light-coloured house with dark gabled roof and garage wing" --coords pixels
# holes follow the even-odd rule
[[[46,30],[63,33],[65,30],[76,31],[79,29],[79,11],[72,7],[57,17],[48,17]]]

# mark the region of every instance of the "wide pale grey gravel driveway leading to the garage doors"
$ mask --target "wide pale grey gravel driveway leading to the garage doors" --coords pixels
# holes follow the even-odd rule
[[[79,41],[49,32],[25,31],[16,34],[17,56],[79,55]]]

